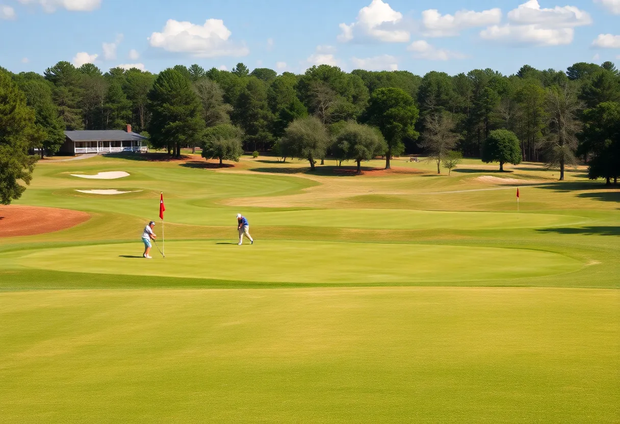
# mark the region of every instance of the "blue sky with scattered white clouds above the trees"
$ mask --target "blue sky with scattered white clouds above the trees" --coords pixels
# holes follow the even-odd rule
[[[620,0],[0,0],[0,66],[512,74],[523,64],[620,64],[619,24]]]

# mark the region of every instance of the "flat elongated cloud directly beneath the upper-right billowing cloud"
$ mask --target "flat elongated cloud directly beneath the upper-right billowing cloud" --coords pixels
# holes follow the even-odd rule
[[[538,25],[494,25],[480,32],[484,40],[514,45],[559,46],[573,42],[572,28],[541,28]]]

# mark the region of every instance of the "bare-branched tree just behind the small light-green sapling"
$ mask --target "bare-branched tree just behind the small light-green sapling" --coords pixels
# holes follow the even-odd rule
[[[441,161],[461,139],[460,135],[453,132],[455,125],[453,116],[448,112],[428,115],[426,118],[425,131],[418,146],[427,151],[429,161],[437,162],[437,174],[441,174]]]

